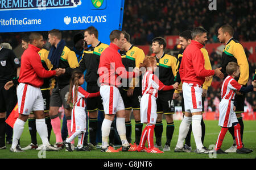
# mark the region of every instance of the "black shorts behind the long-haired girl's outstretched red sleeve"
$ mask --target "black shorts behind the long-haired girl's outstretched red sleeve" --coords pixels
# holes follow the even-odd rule
[[[86,91],[88,93],[96,93],[100,91],[100,87],[97,84],[88,83],[86,86]],[[86,106],[87,106],[87,111],[96,111],[96,110],[104,111],[101,96],[87,98]]]

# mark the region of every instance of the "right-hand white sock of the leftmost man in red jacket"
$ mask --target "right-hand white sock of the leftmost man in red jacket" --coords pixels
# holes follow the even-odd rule
[[[43,145],[49,146],[46,119],[36,119],[36,131],[38,131]]]

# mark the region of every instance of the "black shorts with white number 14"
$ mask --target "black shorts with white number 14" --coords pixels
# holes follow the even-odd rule
[[[168,92],[160,91],[158,94],[158,98],[156,99],[157,109],[156,112],[158,114],[174,114],[175,106],[174,100],[172,96],[174,94],[174,90],[170,90]]]

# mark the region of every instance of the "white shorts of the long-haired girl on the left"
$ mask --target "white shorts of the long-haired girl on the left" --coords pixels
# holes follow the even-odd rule
[[[86,113],[84,107],[73,107],[71,113],[71,131],[86,131]]]

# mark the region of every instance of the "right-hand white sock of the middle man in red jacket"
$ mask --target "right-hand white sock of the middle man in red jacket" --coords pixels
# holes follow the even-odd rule
[[[117,132],[122,141],[122,145],[129,146],[130,144],[126,139],[125,118],[117,118]]]

